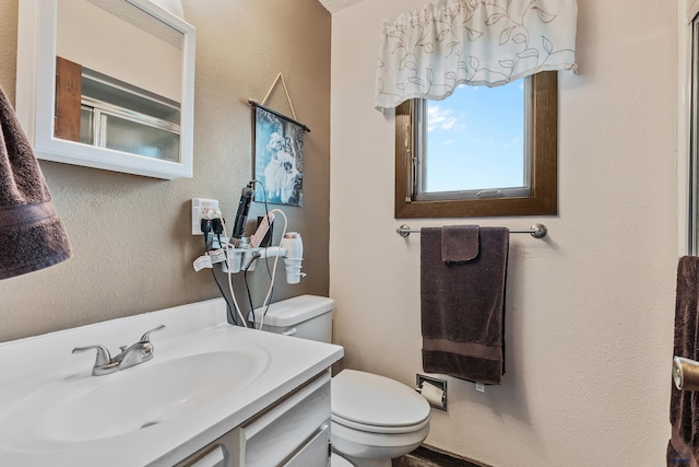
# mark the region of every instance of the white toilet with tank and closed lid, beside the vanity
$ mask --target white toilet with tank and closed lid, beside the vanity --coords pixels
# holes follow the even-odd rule
[[[331,341],[335,302],[300,295],[270,305],[262,329],[323,342]],[[259,325],[262,308],[254,311]],[[371,373],[343,370],[331,382],[332,467],[390,467],[427,437],[429,404],[412,388]],[[341,464],[342,463],[342,464]]]

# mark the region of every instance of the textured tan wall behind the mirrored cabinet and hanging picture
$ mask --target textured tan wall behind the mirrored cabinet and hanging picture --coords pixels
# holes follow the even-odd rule
[[[0,86],[12,102],[17,1],[0,2]],[[190,231],[191,198],[218,199],[233,221],[251,177],[247,100],[262,100],[279,72],[312,132],[305,139],[305,206],[285,209],[289,230],[303,233],[308,277],[287,285],[281,275],[274,296],[328,293],[330,14],[317,0],[185,0],[183,8],[198,28],[194,178],[42,162],[74,257],[0,281],[0,341],[217,296],[211,273],[191,266],[202,252]],[[281,86],[269,105],[291,114]],[[250,218],[261,212],[256,203]],[[265,272],[251,277],[259,305]]]

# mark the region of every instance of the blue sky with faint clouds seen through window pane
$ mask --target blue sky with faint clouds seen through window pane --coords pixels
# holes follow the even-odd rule
[[[524,81],[428,101],[425,191],[524,186]]]

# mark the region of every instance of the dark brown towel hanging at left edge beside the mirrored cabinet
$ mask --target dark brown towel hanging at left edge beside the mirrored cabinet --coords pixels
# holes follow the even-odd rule
[[[0,90],[0,279],[71,256],[63,224],[32,147]]]

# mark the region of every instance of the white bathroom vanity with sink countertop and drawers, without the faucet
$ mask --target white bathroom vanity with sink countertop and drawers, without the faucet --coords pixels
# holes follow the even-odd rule
[[[327,466],[339,346],[226,323],[221,299],[0,343],[0,465]],[[153,359],[93,376],[149,329]]]

